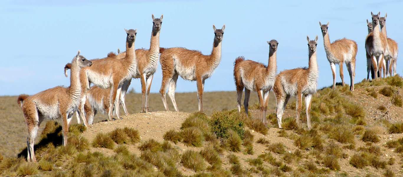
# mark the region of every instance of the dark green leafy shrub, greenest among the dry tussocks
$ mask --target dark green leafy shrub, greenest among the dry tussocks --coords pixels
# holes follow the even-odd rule
[[[239,137],[243,138],[245,132],[244,119],[236,110],[235,111],[213,111],[209,120],[212,132],[219,138],[228,138],[229,130],[237,132]]]

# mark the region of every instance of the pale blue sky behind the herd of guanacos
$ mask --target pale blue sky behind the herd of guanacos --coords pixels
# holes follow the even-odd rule
[[[332,84],[319,21],[329,25],[330,40],[342,37],[358,44],[355,82],[366,78],[364,42],[370,12],[387,17],[388,37],[403,44],[402,1],[162,1],[3,0],[0,2],[0,95],[35,94],[57,85],[69,85],[64,64],[81,50],[87,59],[103,58],[117,48],[125,50],[123,30],[136,29],[136,48],[149,48],[151,14],[164,14],[161,47],[187,47],[210,54],[212,25],[226,24],[222,60],[205,91],[233,91],[233,61],[237,56],[267,64],[268,44],[276,39],[278,72],[308,65],[306,36],[318,35],[318,87]],[[401,55],[400,55],[401,56]],[[344,65],[345,67],[345,65]],[[337,66],[337,70],[338,70]],[[402,74],[398,59],[397,72]],[[339,73],[337,71],[337,73]],[[344,68],[346,83],[349,74]],[[161,85],[161,70],[154,75],[152,92]],[[341,81],[337,74],[337,82]],[[140,82],[131,87],[140,91]],[[177,92],[196,91],[196,83],[179,78]]]

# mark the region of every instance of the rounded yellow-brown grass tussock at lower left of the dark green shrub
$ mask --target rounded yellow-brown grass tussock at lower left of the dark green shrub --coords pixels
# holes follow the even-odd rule
[[[186,146],[195,146],[200,147],[203,145],[204,136],[202,130],[197,127],[189,127],[183,129],[181,132],[181,137],[183,139],[183,143]]]

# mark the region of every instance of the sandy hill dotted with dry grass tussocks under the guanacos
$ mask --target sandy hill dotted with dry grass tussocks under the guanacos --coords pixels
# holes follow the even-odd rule
[[[35,149],[39,163],[5,157],[0,162],[0,174],[12,176],[36,170],[36,174],[49,176],[403,176],[402,86],[401,77],[396,76],[361,82],[355,85],[353,93],[348,86],[337,86],[335,91],[323,88],[312,101],[311,131],[306,128],[304,111],[302,123],[295,124],[293,100],[287,105],[284,129],[280,130],[273,114],[267,117],[268,128],[251,118],[259,115],[252,104],[257,101],[256,96],[250,102],[251,116],[247,118],[231,110],[236,105],[234,92],[208,93],[214,95],[210,98],[214,102],[206,104],[210,106],[207,117],[155,111],[122,116],[123,119],[116,121],[100,121],[82,133],[74,133],[83,128],[73,126],[71,134],[83,140],[72,138],[75,146],[71,149],[57,143]],[[177,98],[178,103],[190,100]],[[270,101],[274,102],[274,97]],[[197,102],[194,99],[190,102],[179,104],[179,109],[197,109]],[[229,111],[212,112],[212,105]],[[268,113],[274,113],[273,104]],[[139,140],[134,141],[133,135],[129,136],[133,142],[129,142],[126,135],[119,133],[119,128],[133,128]],[[220,137],[218,130],[224,129],[226,132]],[[170,136],[166,135],[169,130],[174,132]],[[101,139],[101,134],[108,137]],[[176,135],[179,142],[172,138]],[[123,146],[113,141],[106,143],[110,136],[115,141],[122,139]],[[170,141],[164,141],[164,136]],[[102,140],[102,146],[108,148],[98,147],[99,142],[94,145],[96,140]],[[19,145],[23,146],[23,143]],[[52,168],[46,168],[47,161]],[[97,170],[88,172],[86,168]]]

